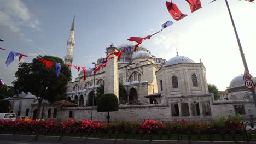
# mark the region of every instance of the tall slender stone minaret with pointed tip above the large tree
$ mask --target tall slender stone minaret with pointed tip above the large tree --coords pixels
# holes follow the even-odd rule
[[[72,26],[70,29],[70,35],[69,38],[67,39],[67,55],[64,57],[65,64],[72,64],[73,62],[73,49],[74,49],[74,19],[75,15],[73,18]]]

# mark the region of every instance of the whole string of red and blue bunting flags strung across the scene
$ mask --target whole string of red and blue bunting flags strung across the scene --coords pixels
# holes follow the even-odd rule
[[[202,8],[202,5],[201,5],[201,1],[200,0],[185,0],[188,2],[189,4],[189,7],[190,7],[190,10],[191,10],[191,13],[194,13],[196,10],[199,10],[200,8]],[[214,1],[217,1],[217,0],[213,0],[211,1],[210,3],[214,2]],[[245,0],[245,1],[248,1],[248,2],[253,2],[254,0]],[[208,3],[208,4],[210,4]],[[176,4],[174,4],[172,1],[168,2],[166,1],[166,8],[168,10],[168,12],[170,13],[170,15],[172,16],[172,18],[176,21],[179,21],[181,19],[183,19],[184,17],[188,16],[186,14],[183,14],[181,12],[181,10],[179,10],[179,8],[177,7]],[[155,32],[151,35],[147,35],[146,37],[130,37],[129,39],[127,39],[127,41],[135,41],[137,44],[134,46],[134,49],[133,51],[136,52],[137,51],[137,47],[142,44],[142,42],[144,40],[147,40],[147,39],[150,39],[151,37],[153,37],[155,34],[158,34],[160,32],[162,32],[163,29],[169,27],[173,25],[173,22],[172,21],[166,21],[165,23],[163,23],[161,25],[162,29],[160,29],[160,31],[158,32]],[[120,51],[120,52],[113,52],[113,53],[110,53],[105,59],[104,61],[102,62],[102,64],[98,65],[97,67],[95,68],[89,68],[90,70],[94,71],[94,74],[96,74],[98,72],[98,70],[100,70],[101,68],[105,68],[106,65],[107,65],[107,62],[110,60],[110,59],[113,59],[114,57],[110,57],[112,55],[115,55],[117,56],[117,61],[120,60],[120,57],[122,55],[122,53],[126,52],[126,51],[129,51],[132,47],[131,46],[127,46],[125,47],[124,50]],[[4,50],[4,51],[7,51],[7,49],[4,49],[2,47],[0,47],[0,50]],[[8,65],[14,61],[14,57],[16,56],[19,56],[19,61],[21,60],[22,57],[28,57],[28,55],[24,55],[22,53],[18,53],[18,52],[13,52],[13,51],[10,51],[8,57],[7,57],[7,60],[5,62],[5,64]],[[42,59],[42,58],[37,58],[38,61],[42,62],[45,64],[46,68],[52,68],[53,67],[53,62],[51,61],[47,61],[45,59]],[[83,72],[84,72],[84,81],[86,80],[86,67],[80,67],[80,66],[77,66],[77,65],[73,65],[75,69],[77,69],[77,71],[79,72],[79,70],[82,68]],[[69,67],[71,69],[72,65],[71,64],[67,64],[67,67]],[[56,63],[56,77],[59,77],[59,74],[60,74],[60,70],[61,70],[61,64],[60,63]],[[0,79],[0,87],[3,86],[3,80]]]

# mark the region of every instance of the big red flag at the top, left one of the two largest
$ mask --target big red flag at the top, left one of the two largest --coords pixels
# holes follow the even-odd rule
[[[174,20],[179,21],[179,20],[183,19],[185,16],[187,16],[187,15],[182,14],[181,10],[179,10],[177,5],[172,3],[172,1],[171,2],[166,1],[165,4],[166,4],[166,7],[167,7],[169,13],[171,14],[171,16]]]

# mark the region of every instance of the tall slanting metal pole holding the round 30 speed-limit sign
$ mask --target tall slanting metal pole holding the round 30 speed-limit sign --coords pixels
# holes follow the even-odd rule
[[[231,22],[232,22],[232,26],[233,26],[234,31],[235,31],[235,34],[236,34],[236,40],[237,40],[237,44],[238,44],[238,46],[239,46],[240,55],[241,55],[241,57],[242,57],[243,67],[245,67],[245,70],[247,70],[248,73],[249,73],[248,65],[247,65],[246,59],[245,59],[245,54],[243,53],[242,45],[241,45],[241,43],[240,43],[240,39],[239,39],[238,34],[237,34],[237,31],[236,31],[236,26],[235,26],[235,23],[234,23],[234,20],[233,20],[231,11],[230,11],[230,9],[229,9],[228,1],[225,0],[225,2],[226,2],[226,7],[228,7],[229,16],[230,16],[230,19],[231,19]],[[251,89],[250,91],[252,92],[253,100],[254,100],[254,105],[256,106],[256,93],[255,93],[255,88]]]

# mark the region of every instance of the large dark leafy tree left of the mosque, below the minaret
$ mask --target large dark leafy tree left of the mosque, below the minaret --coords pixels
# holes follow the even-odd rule
[[[38,61],[43,58],[53,62],[53,68],[46,68],[45,64]],[[15,73],[16,80],[13,86],[16,92],[31,92],[38,99],[38,116],[43,99],[56,101],[61,95],[65,95],[68,82],[71,80],[71,71],[59,57],[37,56],[31,63],[19,63]],[[61,63],[59,78],[55,76],[55,64]]]

